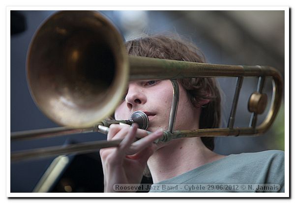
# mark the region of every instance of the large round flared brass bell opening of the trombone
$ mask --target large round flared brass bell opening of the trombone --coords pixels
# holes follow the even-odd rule
[[[61,126],[109,116],[125,91],[127,55],[117,29],[93,11],[61,11],[36,31],[27,57],[30,94]]]

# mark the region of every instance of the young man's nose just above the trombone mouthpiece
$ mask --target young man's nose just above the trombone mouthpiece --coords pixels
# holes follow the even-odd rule
[[[136,83],[130,83],[128,92],[125,98],[126,105],[129,109],[136,108],[140,104],[144,104],[147,101],[147,97],[143,89]]]

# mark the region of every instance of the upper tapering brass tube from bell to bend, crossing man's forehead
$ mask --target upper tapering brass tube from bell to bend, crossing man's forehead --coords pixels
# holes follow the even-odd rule
[[[177,79],[190,77],[271,76],[260,66],[221,65],[169,59],[128,56],[129,80]]]

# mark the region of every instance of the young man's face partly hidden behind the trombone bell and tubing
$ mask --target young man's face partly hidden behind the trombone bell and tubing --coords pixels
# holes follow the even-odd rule
[[[116,120],[127,120],[137,110],[148,115],[148,131],[162,128],[167,130],[173,98],[173,86],[170,80],[141,80],[129,83],[125,100],[115,111]],[[186,90],[179,85],[179,102],[175,129],[196,129],[199,124],[199,113]],[[196,126],[197,124],[197,126]]]

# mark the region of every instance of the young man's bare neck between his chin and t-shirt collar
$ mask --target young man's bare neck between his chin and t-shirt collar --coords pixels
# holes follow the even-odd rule
[[[159,148],[148,159],[148,168],[157,183],[222,157],[207,149],[200,137],[177,139]]]

